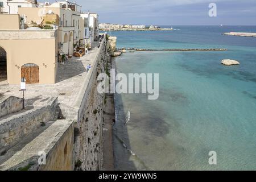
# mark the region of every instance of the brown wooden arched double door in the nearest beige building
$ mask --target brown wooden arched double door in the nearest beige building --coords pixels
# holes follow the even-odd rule
[[[26,84],[39,84],[39,66],[34,63],[24,64],[21,77],[26,78]]]

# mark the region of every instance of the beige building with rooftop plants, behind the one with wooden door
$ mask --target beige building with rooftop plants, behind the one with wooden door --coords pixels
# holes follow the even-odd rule
[[[31,26],[31,22],[58,27],[59,53],[73,55],[73,48],[84,38],[81,26],[81,6],[68,1],[47,4],[43,8],[18,8],[18,13],[24,19],[24,24]]]

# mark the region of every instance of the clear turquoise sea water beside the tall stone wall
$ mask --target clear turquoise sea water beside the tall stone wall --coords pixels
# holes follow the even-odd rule
[[[118,47],[228,48],[222,52],[134,52],[117,72],[159,73],[159,99],[115,94],[115,169],[256,169],[256,39],[221,35],[256,27],[174,27],[112,32]],[[225,67],[222,59],[240,65]],[[130,122],[125,122],[130,111]],[[132,152],[131,152],[132,151]],[[217,165],[208,164],[209,151]]]

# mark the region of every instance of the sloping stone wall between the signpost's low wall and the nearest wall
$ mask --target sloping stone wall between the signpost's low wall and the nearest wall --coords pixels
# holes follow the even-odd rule
[[[0,121],[0,150],[18,143],[23,137],[53,119],[57,98],[50,98],[42,106],[22,110],[13,115],[2,117]]]

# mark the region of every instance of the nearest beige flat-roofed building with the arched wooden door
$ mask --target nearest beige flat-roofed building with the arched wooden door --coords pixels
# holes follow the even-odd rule
[[[55,84],[57,31],[21,30],[18,14],[0,14],[0,81]]]

